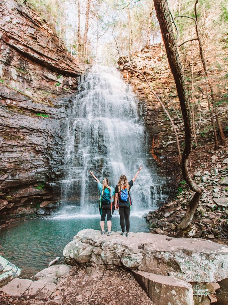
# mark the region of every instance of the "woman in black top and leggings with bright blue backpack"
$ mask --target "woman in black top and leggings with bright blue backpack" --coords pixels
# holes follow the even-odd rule
[[[135,179],[138,177],[138,174],[143,166],[140,166],[138,172],[134,175],[131,181],[128,182],[125,175],[121,175],[118,184],[115,187],[115,210],[119,208],[120,214],[120,225],[121,225],[121,235],[129,237],[130,233],[130,211],[131,211],[131,197],[130,189],[133,186]],[[126,226],[126,233],[125,233]]]

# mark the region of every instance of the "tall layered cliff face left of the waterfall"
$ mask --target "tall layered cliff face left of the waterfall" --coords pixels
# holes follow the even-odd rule
[[[84,67],[29,7],[10,0],[0,14],[0,210],[7,215],[55,200],[69,96]]]

